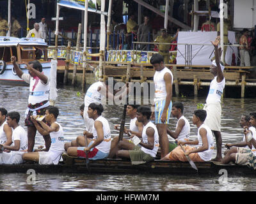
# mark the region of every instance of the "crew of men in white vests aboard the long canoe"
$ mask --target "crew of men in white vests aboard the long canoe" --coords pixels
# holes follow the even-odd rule
[[[80,106],[80,115],[84,119],[83,136],[65,143],[63,128],[57,118],[59,109],[49,106],[49,79],[42,72],[38,61],[26,63],[28,74],[19,68],[16,57],[12,64],[17,75],[29,84],[28,108],[25,125],[27,131],[20,126],[19,112],[7,112],[0,108],[0,163],[1,164],[58,164],[61,155],[84,157],[87,159],[122,158],[131,163],[142,164],[156,158],[168,161],[194,162],[218,161],[230,162],[256,168],[256,113],[243,115],[241,127],[244,139],[241,143],[227,143],[224,157],[221,154],[221,95],[225,88],[225,67],[220,61],[221,48],[218,48],[220,36],[212,41],[215,60],[212,62],[213,79],[209,88],[204,109],[193,112],[192,122],[198,129],[197,139],[190,140],[190,124],[184,117],[184,106],[179,101],[172,103],[173,75],[164,65],[164,57],[152,55],[150,63],[156,70],[154,74],[154,104],[127,105],[127,115],[131,118],[130,126],[124,128],[129,139],[111,138],[108,120],[102,116],[104,107],[102,100],[122,99],[129,93],[129,85],[125,84],[114,91],[113,84],[95,82],[84,96],[84,104]],[[177,120],[175,130],[168,128],[170,115]],[[152,122],[152,120],[154,120]],[[120,130],[120,126],[115,126]],[[36,131],[44,137],[45,145],[34,149]],[[175,139],[169,142],[168,135]],[[214,152],[214,136],[217,154]],[[196,146],[195,146],[196,145]]]

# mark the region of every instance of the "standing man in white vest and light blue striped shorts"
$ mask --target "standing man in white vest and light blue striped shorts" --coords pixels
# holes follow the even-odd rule
[[[173,75],[170,69],[164,66],[164,58],[160,54],[154,54],[150,58],[150,64],[154,66],[155,98],[152,119],[156,119],[156,127],[159,134],[161,158],[168,154],[169,140],[167,136],[167,124],[172,110],[172,84]]]

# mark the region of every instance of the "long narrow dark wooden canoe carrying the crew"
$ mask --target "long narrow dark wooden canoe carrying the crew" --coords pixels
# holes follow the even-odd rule
[[[198,171],[191,168],[189,163],[159,161],[132,165],[130,161],[122,159],[100,159],[90,161],[91,173],[149,173],[149,174],[179,174],[179,175],[255,175],[256,171],[247,166],[236,164],[221,165],[213,162],[195,163]],[[26,173],[29,169],[36,173],[88,173],[86,161],[83,158],[63,155],[63,161],[58,165],[39,164],[2,164],[0,173]]]

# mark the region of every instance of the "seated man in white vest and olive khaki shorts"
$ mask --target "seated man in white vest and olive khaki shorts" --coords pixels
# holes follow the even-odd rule
[[[132,164],[143,164],[154,160],[159,148],[159,135],[156,126],[150,121],[151,111],[147,106],[137,110],[137,120],[143,123],[140,146],[131,144],[128,150],[118,150],[116,156],[131,159]]]

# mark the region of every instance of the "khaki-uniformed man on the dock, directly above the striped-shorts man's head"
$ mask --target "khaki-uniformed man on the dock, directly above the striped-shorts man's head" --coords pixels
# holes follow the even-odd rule
[[[179,29],[177,29],[177,33],[174,37],[168,35],[166,33],[166,29],[161,29],[161,36],[157,36],[156,40],[154,40],[154,43],[172,43],[172,41],[176,40],[178,37]],[[158,53],[164,57],[164,64],[169,64],[169,48],[170,45],[156,45],[158,48]]]

